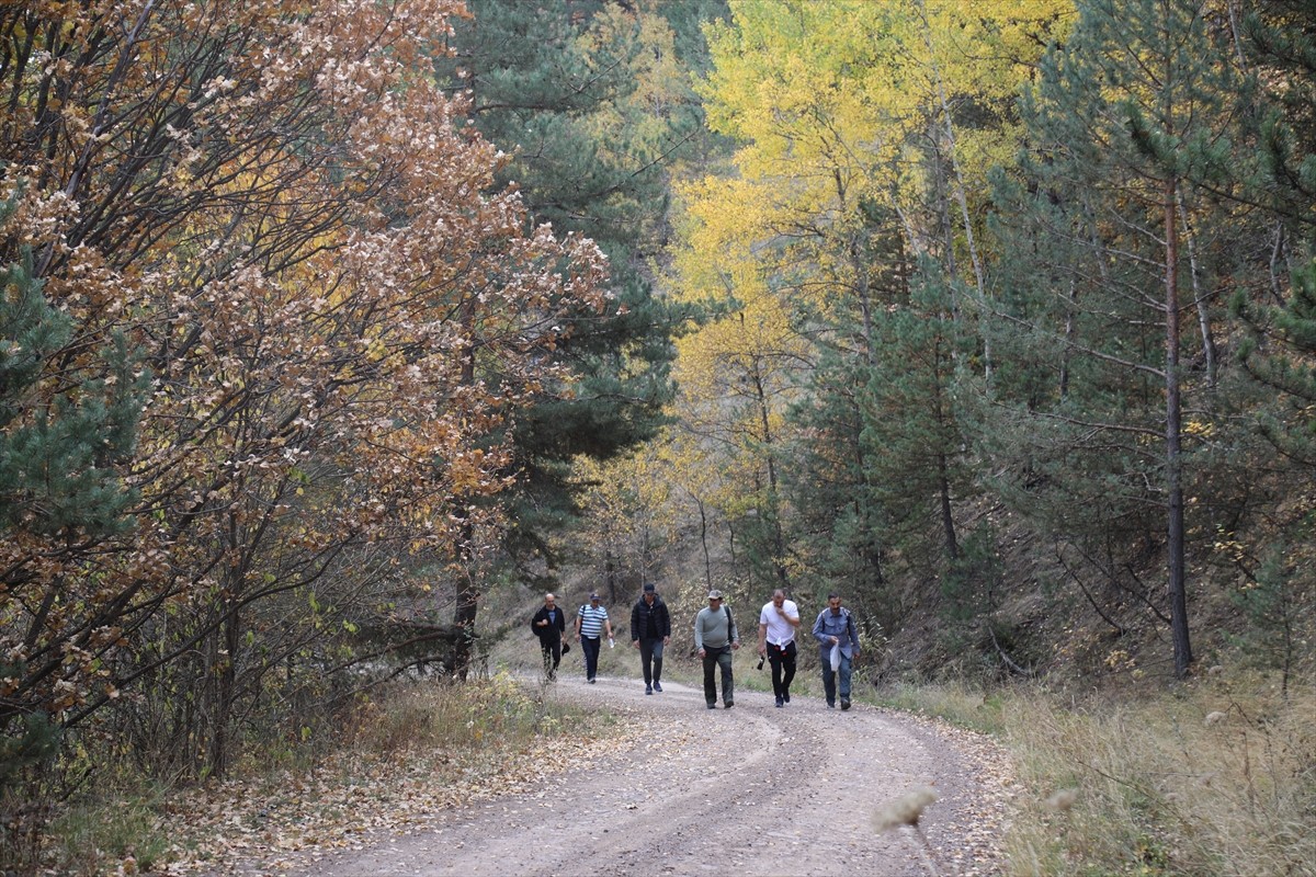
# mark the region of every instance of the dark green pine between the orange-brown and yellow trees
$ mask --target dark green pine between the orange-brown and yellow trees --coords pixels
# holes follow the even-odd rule
[[[699,16],[719,5],[655,7],[675,26],[679,64],[707,55]],[[468,91],[475,128],[509,154],[499,181],[520,189],[537,222],[594,239],[612,267],[609,309],[575,314],[555,351],[570,392],[549,388],[516,417],[519,526],[508,544],[545,555],[549,534],[575,514],[570,462],[609,459],[666,422],[670,339],[695,314],[654,296],[650,263],[666,235],[671,166],[697,146],[703,120],[692,92],[686,103],[636,99],[642,53],[667,49],[646,45],[633,9],[475,0],[470,11],[440,78]]]

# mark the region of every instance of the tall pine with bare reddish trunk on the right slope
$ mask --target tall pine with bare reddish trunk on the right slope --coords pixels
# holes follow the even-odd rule
[[[983,450],[1008,460],[998,486],[1019,509],[1090,556],[1165,534],[1148,547],[1165,556],[1178,676],[1192,661],[1182,400],[1202,385],[1184,352],[1212,343],[1204,300],[1187,295],[1200,277],[1186,220],[1195,184],[1229,162],[1225,37],[1204,4],[1080,4],[1025,103],[1023,183],[1000,187],[994,343],[998,362],[1025,364],[983,389]],[[1200,346],[1179,325],[1195,312]]]

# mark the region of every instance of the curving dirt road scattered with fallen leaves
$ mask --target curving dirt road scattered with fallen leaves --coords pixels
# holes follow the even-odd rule
[[[738,692],[708,710],[675,682],[646,697],[634,678],[563,678],[555,697],[632,713],[649,730],[626,751],[563,764],[528,793],[438,815],[280,873],[512,877],[519,874],[994,874],[1008,777],[974,735],[817,698],[776,709]],[[912,788],[940,799],[912,828],[873,815]]]

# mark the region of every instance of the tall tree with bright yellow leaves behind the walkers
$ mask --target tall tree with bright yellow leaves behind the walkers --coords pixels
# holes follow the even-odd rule
[[[873,464],[859,437],[875,415],[850,391],[844,426],[833,418],[820,433],[792,409],[813,406],[820,381],[853,391],[871,379],[878,322],[913,306],[921,260],[940,266],[950,292],[929,316],[945,310],[975,338],[987,170],[1017,149],[1015,96],[1069,26],[1071,4],[741,0],[730,9],[707,32],[713,70],[701,95],[709,125],[737,151],[725,172],[678,187],[671,263],[678,297],[721,300],[725,316],[679,342],[678,414],[704,452],[726,460],[720,468],[744,476],[738,511],[724,510],[757,530],[750,556],[770,560],[749,564],[749,577],[784,582],[801,556],[788,544],[783,448],[844,435],[862,481]],[[990,373],[990,348],[970,348]],[[944,360],[937,380],[949,373]],[[953,548],[949,515],[946,529]]]

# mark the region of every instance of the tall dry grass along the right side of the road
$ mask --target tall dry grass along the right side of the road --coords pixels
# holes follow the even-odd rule
[[[896,702],[994,731],[1021,792],[1008,874],[1316,876],[1316,697],[1211,675],[1066,699],[915,689]]]

